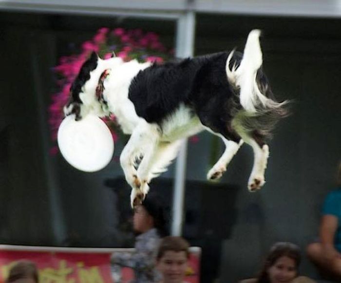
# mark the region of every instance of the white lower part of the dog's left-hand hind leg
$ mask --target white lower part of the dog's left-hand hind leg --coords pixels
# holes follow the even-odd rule
[[[223,139],[226,148],[225,148],[223,155],[208,171],[208,174],[207,174],[208,180],[217,180],[223,175],[223,173],[226,171],[227,165],[230,163],[233,156],[237,153],[237,151],[243,144],[242,139],[239,142],[235,142],[235,141],[227,140],[223,136],[221,136],[221,138]]]

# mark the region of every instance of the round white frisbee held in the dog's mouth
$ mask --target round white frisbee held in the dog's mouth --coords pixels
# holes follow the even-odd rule
[[[78,170],[101,170],[113,158],[112,134],[94,115],[89,114],[80,121],[75,120],[75,115],[65,117],[59,126],[57,140],[65,160]]]

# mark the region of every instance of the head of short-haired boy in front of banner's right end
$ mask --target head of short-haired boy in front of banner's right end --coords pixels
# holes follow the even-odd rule
[[[156,257],[156,267],[163,276],[163,283],[182,283],[189,258],[189,243],[181,238],[168,236],[162,239]]]

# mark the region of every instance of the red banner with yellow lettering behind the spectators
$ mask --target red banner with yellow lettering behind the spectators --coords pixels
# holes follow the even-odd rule
[[[122,250],[0,245],[0,283],[21,259],[37,265],[40,283],[129,283],[131,268],[110,265],[111,254]],[[199,283],[199,266],[200,249],[191,248],[186,282]]]

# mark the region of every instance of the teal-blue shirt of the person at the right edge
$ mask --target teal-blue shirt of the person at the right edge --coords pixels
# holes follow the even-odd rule
[[[334,215],[338,218],[334,245],[341,252],[341,188],[329,192],[324,200],[322,215]]]

